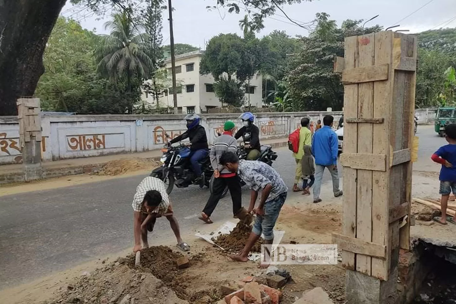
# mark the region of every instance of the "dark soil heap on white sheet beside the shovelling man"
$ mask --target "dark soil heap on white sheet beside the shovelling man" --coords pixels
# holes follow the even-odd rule
[[[245,243],[250,236],[250,232],[252,232],[252,227],[239,221],[230,234],[221,234],[218,237],[213,237],[212,241],[225,250],[238,252],[244,248]],[[260,237],[251,252],[261,252],[261,244],[263,244],[263,242],[264,239]]]

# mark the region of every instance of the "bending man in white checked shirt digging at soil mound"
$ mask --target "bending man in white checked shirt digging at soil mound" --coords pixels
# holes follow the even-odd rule
[[[166,185],[156,177],[147,176],[136,188],[133,197],[133,207],[135,223],[133,231],[135,234],[134,252],[142,248],[149,247],[147,242],[147,231],[152,232],[155,221],[161,216],[165,216],[170,222],[171,229],[177,239],[177,247],[182,251],[189,251],[190,246],[181,239],[179,223],[173,214],[171,202],[166,193]]]

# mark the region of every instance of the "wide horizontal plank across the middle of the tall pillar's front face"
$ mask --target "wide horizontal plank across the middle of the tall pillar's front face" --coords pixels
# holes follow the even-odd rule
[[[344,137],[345,139],[345,137]],[[359,142],[358,142],[359,144]],[[345,140],[344,140],[345,147]],[[344,167],[360,170],[386,171],[386,155],[370,153],[342,153],[340,162]]]

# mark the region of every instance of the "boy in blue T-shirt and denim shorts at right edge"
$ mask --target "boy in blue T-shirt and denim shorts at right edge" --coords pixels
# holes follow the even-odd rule
[[[446,225],[446,221],[456,224],[456,216],[452,218],[450,216],[446,217],[446,207],[448,206],[450,193],[456,193],[456,124],[448,124],[445,127],[445,139],[448,144],[440,147],[431,156],[433,161],[442,165],[439,176],[442,216],[434,217],[434,221],[442,225]]]

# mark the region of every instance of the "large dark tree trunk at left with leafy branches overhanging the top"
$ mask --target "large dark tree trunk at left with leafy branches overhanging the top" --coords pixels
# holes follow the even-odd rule
[[[135,0],[71,0],[103,12],[108,5],[124,11],[138,7]],[[239,13],[238,0],[212,0],[230,13]],[[24,0],[0,2],[0,115],[16,115],[16,99],[31,96],[44,72],[42,55],[47,39],[66,0]],[[246,10],[259,9],[254,23],[274,15],[285,4],[302,0],[249,0]],[[244,9],[244,6],[243,6]],[[131,19],[131,18],[130,18]]]

